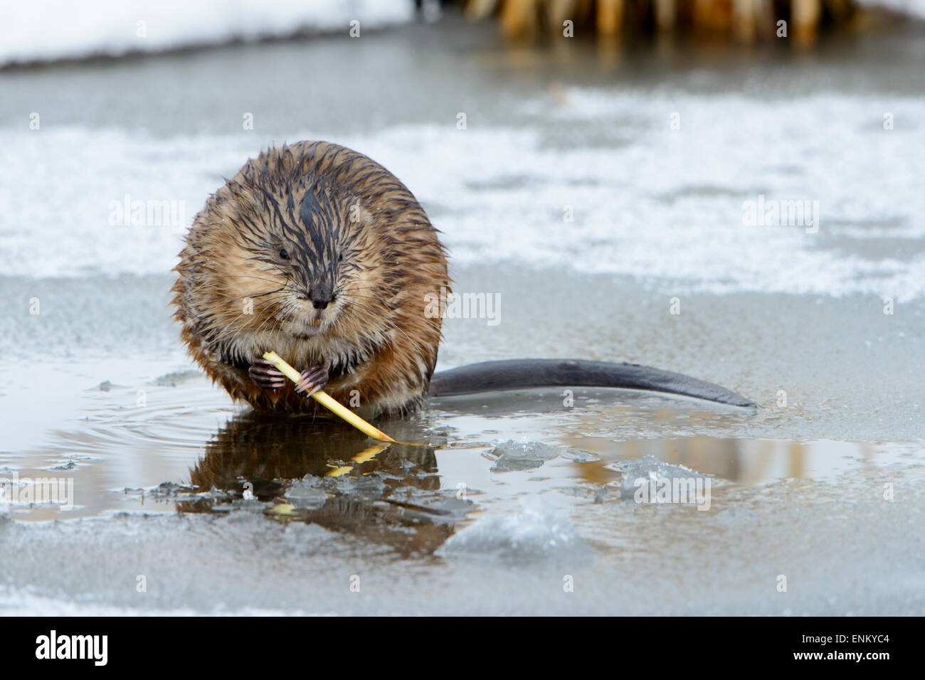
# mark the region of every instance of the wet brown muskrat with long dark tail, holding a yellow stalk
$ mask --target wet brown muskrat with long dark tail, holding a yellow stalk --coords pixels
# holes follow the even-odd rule
[[[255,409],[314,412],[305,395],[325,389],[373,417],[405,414],[427,394],[562,385],[753,405],[630,364],[515,360],[435,376],[442,319],[426,310],[450,291],[438,230],[399,179],[338,144],[298,142],[249,160],[195,216],[179,257],[181,338]],[[298,385],[262,358],[269,350],[302,369]]]

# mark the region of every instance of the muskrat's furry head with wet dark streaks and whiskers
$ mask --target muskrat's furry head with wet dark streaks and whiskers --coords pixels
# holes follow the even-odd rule
[[[388,317],[388,307],[361,199],[311,178],[228,187],[214,283],[229,310],[252,307],[225,319],[235,340],[276,346],[279,334],[324,341],[385,330],[369,321]]]

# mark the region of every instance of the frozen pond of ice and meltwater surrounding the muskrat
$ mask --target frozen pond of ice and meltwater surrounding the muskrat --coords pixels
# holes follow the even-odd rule
[[[919,36],[615,57],[489,33],[0,71],[0,478],[73,494],[0,504],[0,612],[925,612]],[[223,177],[302,139],[388,167],[455,290],[499,295],[497,324],[448,320],[438,368],[628,360],[759,409],[478,395],[376,452],[232,404],[169,270]],[[177,224],[113,220],[126,197]],[[635,502],[666,476],[709,502]]]

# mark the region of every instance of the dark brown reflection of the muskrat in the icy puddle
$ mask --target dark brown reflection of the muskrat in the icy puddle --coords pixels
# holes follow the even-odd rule
[[[390,429],[401,439],[423,435],[412,419]],[[435,447],[393,444],[375,456],[357,458],[364,450],[369,450],[369,439],[351,427],[307,415],[244,413],[219,428],[206,444],[203,458],[191,469],[190,481],[201,492],[215,488],[240,498],[247,489],[258,501],[282,501],[288,500],[284,497],[290,494],[293,480],[314,476],[327,500],[285,515],[283,521],[321,525],[387,544],[401,554],[436,550],[463,513],[442,509],[452,495],[439,492]],[[331,461],[350,464],[350,478],[327,477]],[[177,508],[184,513],[211,513],[233,506],[228,505],[227,495],[207,494],[178,501]]]

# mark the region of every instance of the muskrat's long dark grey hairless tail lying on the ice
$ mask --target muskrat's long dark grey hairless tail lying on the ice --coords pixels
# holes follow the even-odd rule
[[[430,380],[429,395],[542,387],[642,389],[733,406],[755,406],[755,402],[741,394],[696,377],[651,366],[586,359],[509,359],[464,365],[435,373]]]

